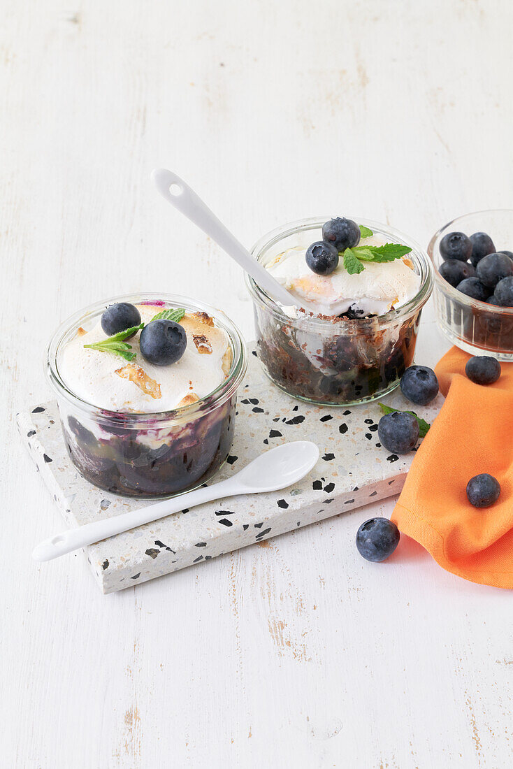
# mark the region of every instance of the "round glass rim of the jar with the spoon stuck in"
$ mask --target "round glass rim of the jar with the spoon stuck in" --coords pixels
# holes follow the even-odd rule
[[[285,225],[276,227],[265,235],[262,235],[262,237],[256,241],[255,245],[253,245],[251,253],[256,259],[258,259],[262,251],[271,248],[272,245],[275,245],[284,238],[287,238],[289,235],[294,235],[294,233],[298,231],[317,229],[321,227],[325,221],[329,221],[330,218],[331,217],[329,216],[315,216],[305,219],[298,219],[298,221],[289,221]],[[418,312],[425,305],[426,301],[428,301],[428,298],[431,295],[431,291],[433,289],[433,268],[431,265],[431,260],[428,258],[426,251],[421,248],[417,241],[414,241],[408,235],[405,235],[395,228],[388,227],[388,225],[383,225],[378,221],[372,221],[371,219],[365,219],[359,216],[351,216],[348,218],[351,218],[353,221],[357,221],[359,225],[364,225],[365,227],[370,228],[373,232],[376,232],[379,235],[395,238],[397,242],[408,245],[411,248],[411,253],[414,255],[416,264],[420,269],[421,285],[417,294],[415,294],[414,297],[407,301],[405,305],[401,305],[394,310],[389,310],[382,315],[374,315],[371,318],[333,318],[331,320],[324,320],[322,318],[309,318],[307,316],[290,318],[285,314],[284,311],[281,310],[280,305],[277,305],[276,302],[271,299],[271,297],[266,294],[265,291],[256,283],[256,281],[248,274],[246,274],[246,286],[252,298],[255,301],[258,301],[258,303],[266,310],[271,311],[271,313],[275,315],[279,321],[286,321],[288,323],[298,322],[301,323],[301,326],[304,325],[305,328],[311,328],[311,330],[316,328],[319,331],[325,328],[332,329],[334,325],[336,325],[337,329],[340,331],[348,331],[350,333],[354,333],[356,329],[361,330],[375,326],[377,321],[379,323],[388,323],[397,320],[404,321],[405,318],[411,317],[411,315],[414,315],[416,312]],[[408,254],[408,257],[409,256],[410,255]]]

